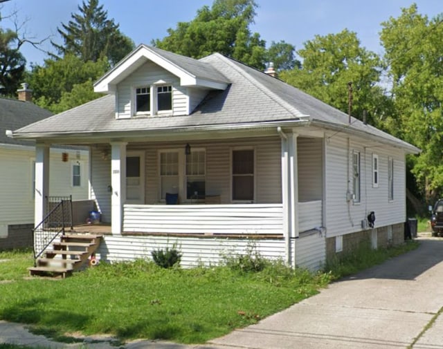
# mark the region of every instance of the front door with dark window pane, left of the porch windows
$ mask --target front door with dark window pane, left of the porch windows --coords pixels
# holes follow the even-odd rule
[[[145,153],[128,152],[126,155],[126,202],[145,203]]]

